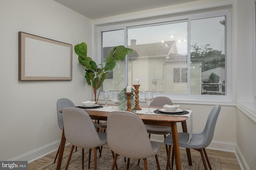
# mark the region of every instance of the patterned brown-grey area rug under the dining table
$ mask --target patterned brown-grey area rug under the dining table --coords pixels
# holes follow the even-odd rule
[[[88,169],[88,153],[89,150],[84,150],[84,169]],[[180,153],[181,167],[182,170],[204,170],[204,165],[202,162],[202,158],[200,155],[191,155],[192,158],[192,166],[188,165],[188,159],[186,153]],[[65,169],[66,162],[68,160],[68,155],[63,156],[61,170]],[[126,159],[127,160],[127,159]],[[158,152],[158,160],[160,164],[160,169],[166,169],[166,160],[167,154],[165,149],[161,149]],[[220,159],[209,157],[210,164],[212,166],[212,170],[221,170]],[[57,161],[56,161],[57,162]],[[99,158],[99,152],[97,151],[97,169],[98,170],[110,170],[113,163],[113,157],[111,154],[111,150],[107,145],[104,145],[102,149],[102,156]],[[154,156],[147,158],[148,170],[157,170],[156,159]],[[118,156],[117,166],[118,170],[126,170],[127,161],[124,162],[124,157]],[[44,167],[38,170],[56,170],[57,163],[50,162]],[[91,163],[90,169],[94,169],[94,152],[92,149],[91,155]],[[140,164],[138,165],[137,159],[130,159],[130,170],[144,170],[144,162],[140,160]],[[175,170],[175,163],[173,169]],[[82,170],[82,149],[77,149],[77,151],[73,152],[70,164],[68,166],[68,170]]]

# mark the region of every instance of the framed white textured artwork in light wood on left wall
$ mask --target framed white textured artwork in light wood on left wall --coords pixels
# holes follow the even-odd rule
[[[72,45],[19,31],[18,77],[72,80]]]

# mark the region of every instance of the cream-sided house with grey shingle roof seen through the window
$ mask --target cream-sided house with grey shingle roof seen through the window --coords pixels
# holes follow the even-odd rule
[[[176,41],[136,45],[133,39],[128,48],[133,49],[133,53],[128,56],[129,86],[139,79],[140,91],[187,94],[187,56],[178,54]],[[104,58],[109,56],[112,49],[103,48]],[[191,67],[192,94],[201,94],[200,62],[193,60]],[[124,61],[116,63],[113,72],[109,72],[104,81],[103,88],[111,91],[124,88]]]

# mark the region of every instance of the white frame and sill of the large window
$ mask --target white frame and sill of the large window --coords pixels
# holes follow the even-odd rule
[[[225,8],[223,10],[223,8]],[[200,10],[198,14],[196,14],[196,11],[191,12],[191,15],[182,15],[181,16],[175,16],[175,17],[170,17],[167,18],[164,16],[161,18],[158,16],[158,19],[155,19],[155,17],[148,17],[141,19],[140,22],[138,23],[136,19],[134,20],[128,20],[128,21],[118,21],[114,23],[104,23],[104,24],[99,24],[99,23],[94,23],[94,40],[96,44],[96,49],[95,53],[98,56],[98,60],[100,61],[101,55],[101,32],[102,31],[109,31],[109,30],[114,30],[114,29],[124,29],[124,32],[126,33],[126,27],[132,27],[136,25],[145,25],[145,24],[155,24],[155,23],[160,23],[160,22],[171,22],[171,21],[177,21],[177,20],[194,20],[195,18],[202,18],[202,16],[206,17],[214,17],[214,16],[221,16],[221,15],[226,15],[226,95],[221,96],[221,95],[191,95],[190,94],[190,81],[188,81],[188,95],[172,95],[172,94],[156,94],[155,96],[167,96],[172,99],[174,103],[180,103],[180,104],[226,104],[230,106],[235,105],[235,96],[232,94],[235,94],[234,92],[234,87],[231,86],[235,81],[232,78],[234,78],[234,75],[231,75],[231,64],[232,64],[232,59],[231,59],[231,54],[234,54],[234,51],[231,51],[231,46],[234,46],[234,44],[231,42],[231,35],[232,35],[232,19],[231,19],[231,8],[232,6],[224,6],[221,7],[221,10],[209,10],[211,12],[202,12],[200,13]],[[189,17],[188,17],[189,16]],[[150,20],[152,18],[152,20]],[[160,19],[159,19],[160,18]],[[190,25],[188,25],[188,29],[190,28]],[[234,33],[233,33],[234,34]],[[124,35],[125,36],[125,35]],[[190,37],[188,35],[188,37]],[[125,37],[126,39],[126,37]],[[190,39],[188,39],[190,42]],[[127,41],[125,41],[125,46],[127,47]],[[127,62],[127,58],[125,59],[125,62]],[[190,62],[190,47],[188,47],[188,62]],[[125,64],[126,66],[127,64]],[[126,66],[127,67],[127,66]],[[127,69],[127,68],[126,68]],[[231,77],[233,76],[233,77]],[[127,79],[127,75],[125,75],[125,78]],[[188,67],[188,80],[190,80],[190,69]],[[125,85],[124,85],[125,87]],[[140,93],[141,94],[141,93]],[[143,96],[141,94],[140,96]],[[154,96],[154,97],[155,97]],[[143,97],[140,97],[143,98]]]

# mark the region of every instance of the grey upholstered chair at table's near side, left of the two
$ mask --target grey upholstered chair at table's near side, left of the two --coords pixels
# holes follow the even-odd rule
[[[106,133],[97,132],[92,119],[86,111],[76,107],[63,109],[64,133],[67,141],[72,145],[66,168],[74,150],[74,146],[82,148],[82,169],[84,169],[84,149],[89,149],[88,169],[90,168],[90,153],[94,148],[94,170],[97,169],[97,148],[107,144]]]

